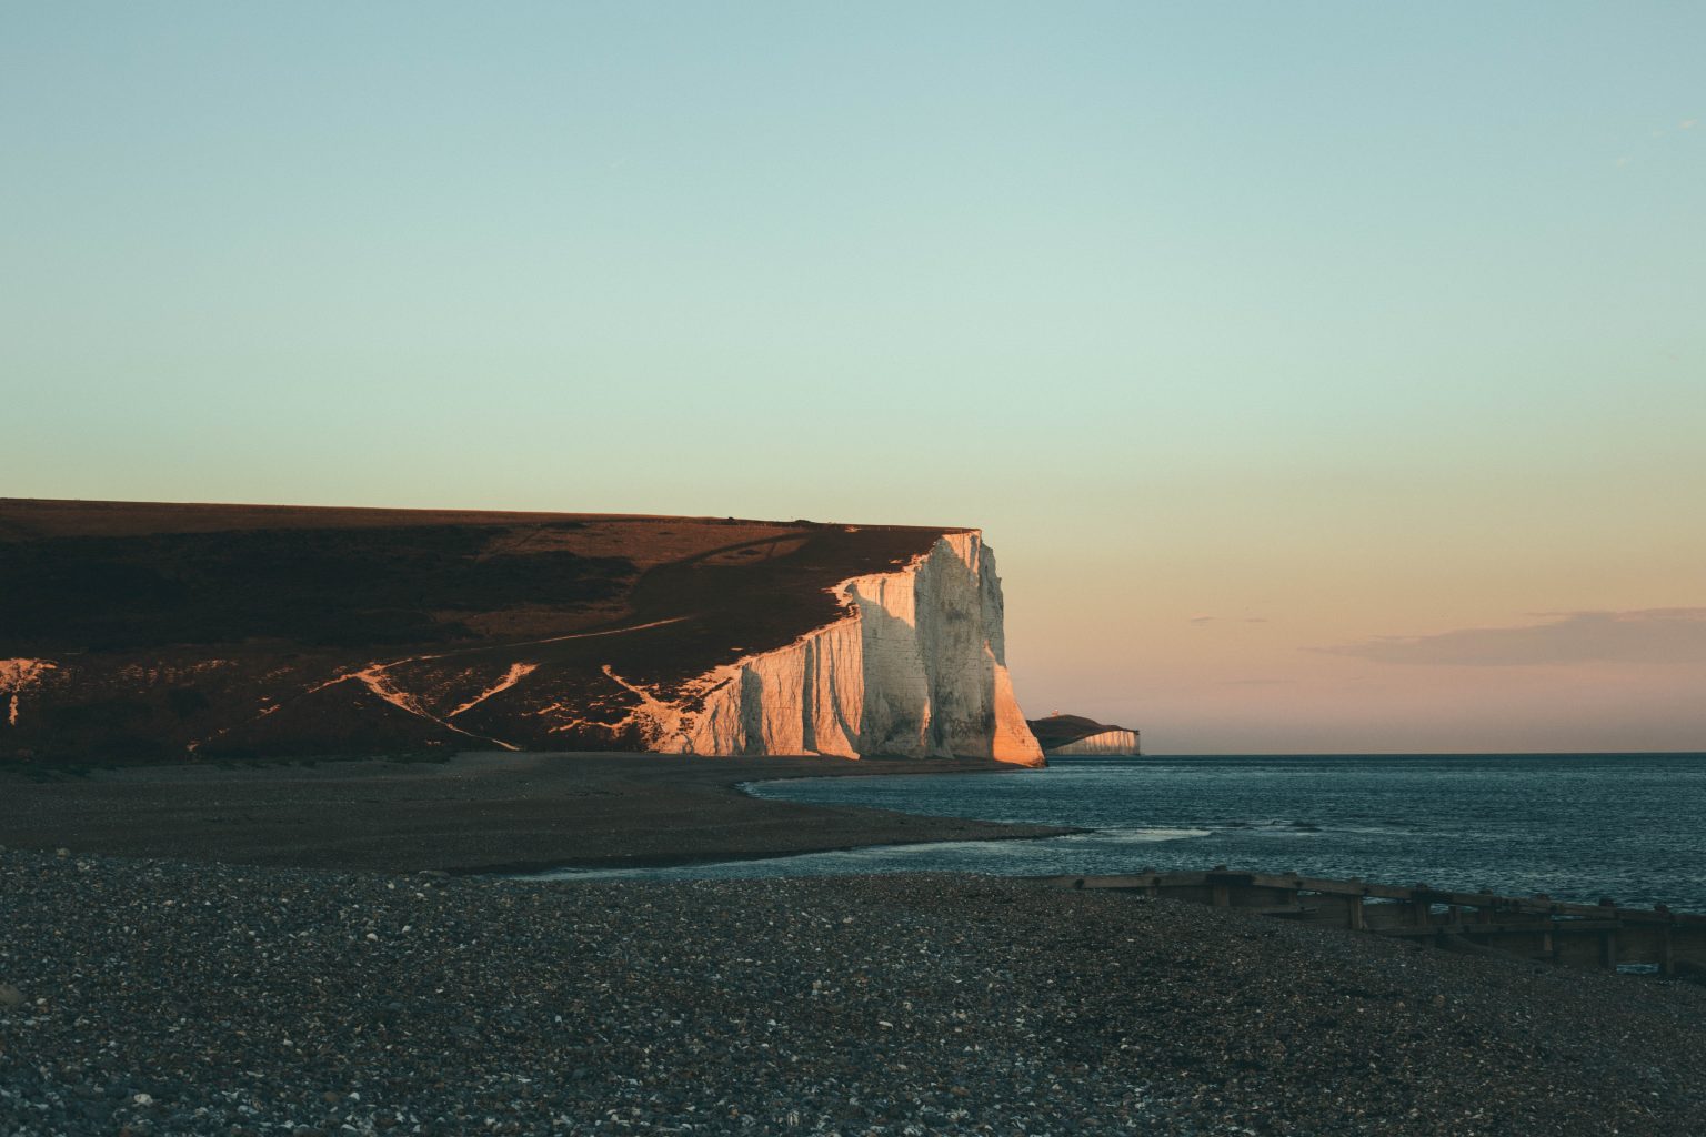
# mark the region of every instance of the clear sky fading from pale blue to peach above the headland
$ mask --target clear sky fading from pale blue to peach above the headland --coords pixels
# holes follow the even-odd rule
[[[976,525],[1157,753],[1706,750],[1706,5],[0,3],[0,496]]]

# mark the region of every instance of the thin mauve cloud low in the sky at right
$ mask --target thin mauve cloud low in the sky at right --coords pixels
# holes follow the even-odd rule
[[[1542,612],[1544,624],[1462,627],[1436,636],[1375,636],[1310,648],[1375,663],[1532,667],[1571,663],[1706,663],[1706,609]]]

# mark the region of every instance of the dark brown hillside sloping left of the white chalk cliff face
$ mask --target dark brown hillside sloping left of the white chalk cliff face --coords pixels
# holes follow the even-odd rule
[[[0,759],[633,748],[942,532],[0,499]]]

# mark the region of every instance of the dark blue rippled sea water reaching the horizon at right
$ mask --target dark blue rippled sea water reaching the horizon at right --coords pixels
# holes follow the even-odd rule
[[[781,801],[1092,832],[597,876],[1046,874],[1227,864],[1706,912],[1706,753],[1054,759],[1047,771],[822,777],[747,789]]]

